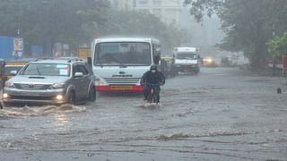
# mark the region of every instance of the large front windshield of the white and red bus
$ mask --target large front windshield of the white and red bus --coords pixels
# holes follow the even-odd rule
[[[147,66],[152,64],[151,46],[145,42],[99,43],[95,48],[94,65]]]

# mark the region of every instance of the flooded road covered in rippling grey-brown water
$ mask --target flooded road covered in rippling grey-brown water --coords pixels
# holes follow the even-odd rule
[[[0,160],[286,160],[286,98],[286,78],[202,68],[167,80],[160,107],[113,94],[5,108]]]

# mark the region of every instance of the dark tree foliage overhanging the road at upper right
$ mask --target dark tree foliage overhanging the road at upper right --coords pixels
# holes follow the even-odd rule
[[[185,3],[191,6],[191,14],[198,21],[205,13],[216,13],[226,34],[218,47],[243,51],[253,68],[265,66],[269,56],[266,43],[273,33],[282,34],[287,28],[285,0],[186,0]]]

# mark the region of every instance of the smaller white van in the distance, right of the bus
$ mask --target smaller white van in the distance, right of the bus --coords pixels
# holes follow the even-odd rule
[[[177,72],[198,73],[200,56],[196,47],[175,47],[174,58]]]

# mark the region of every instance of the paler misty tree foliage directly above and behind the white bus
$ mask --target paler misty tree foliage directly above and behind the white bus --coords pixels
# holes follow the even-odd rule
[[[115,10],[109,12],[107,22],[99,26],[95,35],[158,38],[164,53],[170,53],[172,47],[190,39],[187,30],[178,29],[174,24],[167,25],[151,13]]]

